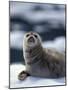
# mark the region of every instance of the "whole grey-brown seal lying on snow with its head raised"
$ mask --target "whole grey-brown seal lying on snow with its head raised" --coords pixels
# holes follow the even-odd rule
[[[65,76],[65,55],[55,49],[43,48],[41,41],[40,35],[35,32],[25,34],[23,56],[26,70],[19,73],[19,80],[29,75],[43,78]]]

